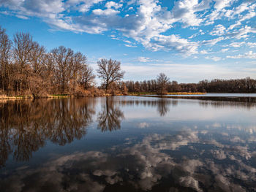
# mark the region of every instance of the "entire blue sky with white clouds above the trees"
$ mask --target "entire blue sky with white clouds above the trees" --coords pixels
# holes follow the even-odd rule
[[[94,70],[121,61],[124,80],[256,79],[256,0],[0,0],[12,39],[80,51]],[[94,71],[95,72],[95,71]]]

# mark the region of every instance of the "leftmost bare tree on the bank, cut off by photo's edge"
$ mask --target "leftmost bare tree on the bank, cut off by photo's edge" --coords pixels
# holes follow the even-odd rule
[[[1,88],[4,91],[10,88],[10,57],[12,42],[7,36],[5,29],[0,26],[0,71]]]

